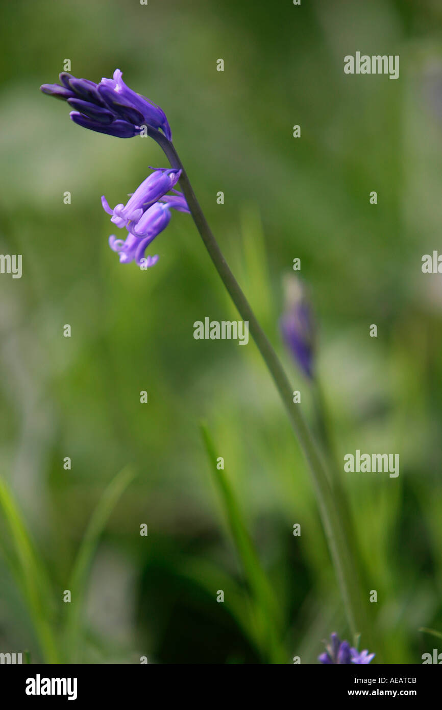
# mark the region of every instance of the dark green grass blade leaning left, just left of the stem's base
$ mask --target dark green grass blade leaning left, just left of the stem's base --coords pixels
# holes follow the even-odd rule
[[[226,474],[216,467],[216,450],[205,425],[201,425],[201,434],[204,446],[209,456],[211,469],[214,473],[216,486],[219,490],[223,509],[226,513],[228,526],[231,530],[233,541],[243,565],[245,579],[250,588],[255,617],[262,637],[262,652],[272,662],[287,662],[287,655],[280,645],[280,613],[275,603],[272,588],[261,567],[253,541],[243,522],[243,515],[233,494]]]

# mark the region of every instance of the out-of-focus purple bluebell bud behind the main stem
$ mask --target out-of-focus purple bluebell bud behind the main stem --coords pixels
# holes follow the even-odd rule
[[[284,286],[284,313],[280,319],[282,338],[304,374],[311,378],[314,374],[315,339],[311,305],[296,276],[289,276]]]

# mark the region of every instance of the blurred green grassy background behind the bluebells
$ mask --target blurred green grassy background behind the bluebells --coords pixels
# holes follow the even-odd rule
[[[193,338],[194,321],[236,312],[192,219],[173,214],[148,271],[120,265],[107,245],[101,195],[125,202],[149,165],[166,162],[148,139],[81,129],[39,92],[66,58],[96,82],[120,68],[165,110],[314,425],[309,384],[277,326],[283,275],[301,258],[340,470],[355,449],[400,454],[397,479],[342,478],[367,574],[370,650],[377,662],[420,663],[441,647],[419,631],[442,631],[442,277],[421,273],[422,255],[441,247],[441,28],[437,0],[3,4],[0,251],[23,254],[23,276],[0,276],[1,476],[48,584],[34,589],[31,552],[20,577],[20,545],[0,513],[1,652],[48,661],[49,628],[59,660],[269,662],[247,621],[248,584],[201,420],[275,595],[285,662],[316,662],[331,631],[349,635],[309,471],[255,345]],[[344,75],[356,50],[400,55],[399,80]],[[75,555],[127,464],[136,478],[103,522],[69,622]]]

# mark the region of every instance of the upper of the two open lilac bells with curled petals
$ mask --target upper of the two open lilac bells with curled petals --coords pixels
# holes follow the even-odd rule
[[[109,207],[106,197],[101,197],[104,211],[111,214],[111,222],[118,227],[128,225],[128,222],[138,222],[148,207],[160,200],[166,192],[177,184],[181,170],[159,168],[146,178],[133,192],[126,205],[117,204],[114,209]]]

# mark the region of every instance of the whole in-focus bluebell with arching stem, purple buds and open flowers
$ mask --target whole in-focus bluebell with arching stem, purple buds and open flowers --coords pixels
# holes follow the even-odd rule
[[[316,491],[331,559],[341,589],[348,625],[353,635],[360,633],[363,631],[364,619],[358,582],[354,574],[355,564],[348,546],[348,537],[341,523],[338,506],[336,506],[336,500],[328,482],[324,461],[299,405],[294,405],[292,402],[293,388],[280,360],[256,320],[248,300],[228,267],[204,217],[184,166],[172,143],[172,131],[164,111],[127,87],[122,80],[121,71],[118,69],[114,72],[112,79],[102,79],[99,84],[85,79],[76,79],[65,72],[60,75],[60,82],[61,84],[44,84],[41,90],[45,94],[67,101],[74,109],[70,113],[70,118],[74,123],[117,138],[131,138],[142,132],[147,132],[147,135],[162,148],[169,160],[172,170],[163,170],[162,175],[156,175],[155,178],[150,175],[150,178],[147,178],[138,188],[140,192],[136,190],[133,193],[131,197],[131,200],[135,198],[133,202],[129,200],[126,206],[119,204],[111,209],[104,200],[104,209],[111,214],[113,223],[120,229],[128,231],[124,240],[116,239],[116,236],[112,235],[109,239],[111,248],[118,251],[121,262],[136,261],[140,264],[146,246],[167,226],[171,207],[179,212],[192,214],[216,271],[223,280],[241,317],[245,322],[248,322],[249,332],[275,381],[289,421],[304,450]],[[164,187],[163,181],[172,181],[175,178],[179,179],[182,193],[174,192],[173,195],[167,195],[167,191],[170,190],[168,188],[162,196],[158,197]],[[159,187],[160,185],[162,187]],[[172,187],[172,189],[174,188]],[[143,197],[144,191],[145,196]],[[155,200],[155,202],[151,200]],[[148,257],[146,261],[146,266],[153,266],[158,261],[158,256]]]

